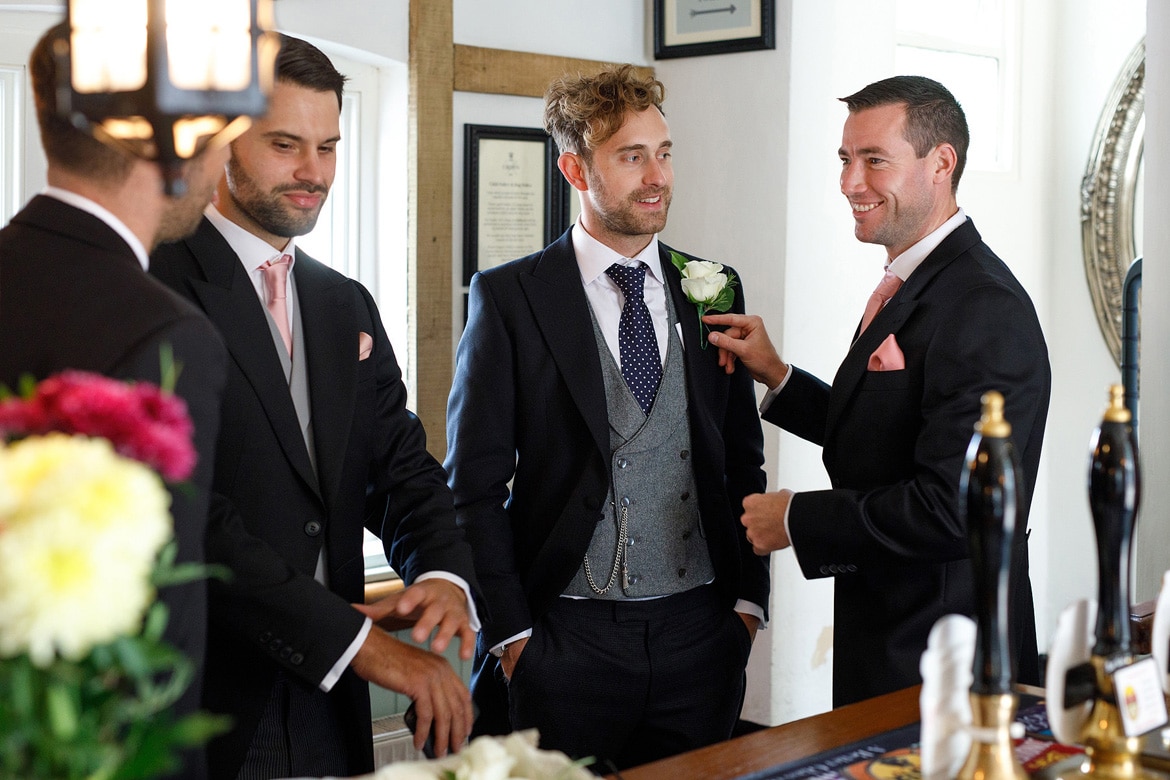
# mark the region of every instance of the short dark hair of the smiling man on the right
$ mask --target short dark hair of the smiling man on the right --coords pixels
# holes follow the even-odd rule
[[[914,146],[914,153],[920,159],[938,144],[950,144],[955,147],[951,192],[958,189],[958,180],[963,175],[963,168],[966,167],[966,149],[971,144],[971,133],[966,127],[963,106],[950,90],[925,76],[894,76],[874,82],[840,99],[849,106],[849,113],[880,105],[904,105],[906,140]]]

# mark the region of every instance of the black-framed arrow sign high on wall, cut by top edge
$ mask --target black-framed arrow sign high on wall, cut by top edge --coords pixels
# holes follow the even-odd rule
[[[776,48],[776,0],[654,0],[654,58]]]

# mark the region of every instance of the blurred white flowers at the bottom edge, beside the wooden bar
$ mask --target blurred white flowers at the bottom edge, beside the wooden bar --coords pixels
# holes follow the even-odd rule
[[[372,780],[592,780],[584,767],[557,751],[537,747],[535,730],[507,737],[477,737],[454,755],[431,761],[402,761],[383,767]]]

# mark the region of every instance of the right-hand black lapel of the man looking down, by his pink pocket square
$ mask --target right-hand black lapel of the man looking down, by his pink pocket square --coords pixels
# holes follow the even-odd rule
[[[297,306],[309,371],[309,408],[317,450],[317,472],[326,501],[337,495],[353,420],[360,330],[352,297],[337,275],[297,250],[294,270]],[[346,351],[344,345],[349,343]]]

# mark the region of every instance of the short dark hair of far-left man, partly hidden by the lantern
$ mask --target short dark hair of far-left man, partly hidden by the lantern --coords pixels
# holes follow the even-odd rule
[[[57,112],[57,47],[68,46],[68,25],[55,25],[33,47],[28,61],[44,157],[51,165],[70,173],[94,181],[119,184],[126,180],[133,166],[130,153],[103,144],[88,130],[77,127]]]

